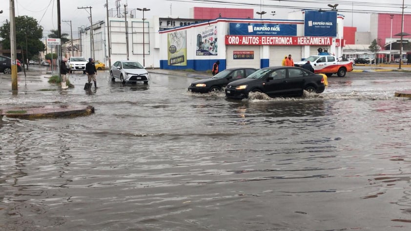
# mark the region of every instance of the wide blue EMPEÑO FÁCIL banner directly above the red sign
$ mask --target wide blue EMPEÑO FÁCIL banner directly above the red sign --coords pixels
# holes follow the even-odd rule
[[[229,35],[296,36],[297,24],[229,23]]]

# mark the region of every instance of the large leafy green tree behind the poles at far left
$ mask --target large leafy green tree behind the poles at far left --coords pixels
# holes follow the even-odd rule
[[[24,52],[27,47],[28,54],[24,54],[24,58],[32,59],[33,56],[38,55],[40,51],[44,50],[44,43],[41,42],[43,27],[39,25],[36,19],[26,15],[16,17],[15,22],[16,46]],[[3,49],[10,49],[10,22],[0,27],[0,38],[3,38]],[[17,54],[17,58],[21,59],[21,54]]]

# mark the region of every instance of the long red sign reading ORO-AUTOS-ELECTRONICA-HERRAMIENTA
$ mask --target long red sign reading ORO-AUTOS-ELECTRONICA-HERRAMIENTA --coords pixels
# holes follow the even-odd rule
[[[226,45],[304,46],[304,45],[331,45],[331,44],[332,44],[331,37],[226,35]]]

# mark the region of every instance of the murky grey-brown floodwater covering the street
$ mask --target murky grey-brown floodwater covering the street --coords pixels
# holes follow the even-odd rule
[[[409,231],[408,73],[349,73],[319,95],[227,100],[195,79],[0,93],[95,114],[0,122],[1,231]],[[4,81],[4,80],[3,80]],[[42,80],[45,81],[45,80]],[[2,82],[4,83],[4,82]]]

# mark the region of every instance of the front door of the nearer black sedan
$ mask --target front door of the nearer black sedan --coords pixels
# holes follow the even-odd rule
[[[264,78],[265,83],[263,83],[263,91],[268,96],[280,96],[287,91],[287,68],[275,69],[268,73]]]

